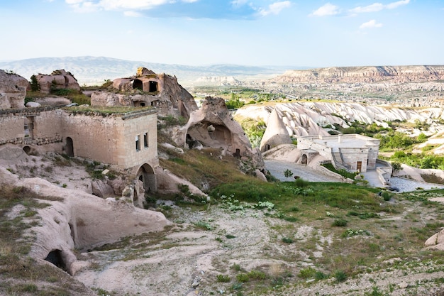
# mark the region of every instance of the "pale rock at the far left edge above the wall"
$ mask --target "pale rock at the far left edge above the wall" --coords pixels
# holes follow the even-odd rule
[[[0,109],[24,108],[28,80],[0,70]]]

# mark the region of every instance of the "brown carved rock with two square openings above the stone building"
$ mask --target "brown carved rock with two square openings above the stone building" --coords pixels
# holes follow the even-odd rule
[[[113,80],[113,92],[91,94],[92,106],[155,106],[160,115],[183,116],[197,109],[194,97],[176,77],[155,74],[144,67],[133,77]],[[116,93],[116,90],[118,93]]]

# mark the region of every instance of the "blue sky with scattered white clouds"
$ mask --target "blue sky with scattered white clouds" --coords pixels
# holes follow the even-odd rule
[[[444,65],[444,0],[0,0],[0,60]]]

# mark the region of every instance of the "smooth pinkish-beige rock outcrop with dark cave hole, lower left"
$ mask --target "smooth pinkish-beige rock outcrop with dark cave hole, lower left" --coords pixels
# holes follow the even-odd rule
[[[0,167],[0,185],[23,186],[51,197],[49,207],[38,209],[40,221],[33,231],[35,241],[29,255],[44,259],[53,252],[60,256],[62,267],[74,274],[77,258],[74,248],[87,250],[123,236],[162,231],[172,224],[160,212],[135,207],[125,199],[101,199],[86,192],[57,187],[40,179],[22,179]],[[81,265],[81,264],[80,264]]]

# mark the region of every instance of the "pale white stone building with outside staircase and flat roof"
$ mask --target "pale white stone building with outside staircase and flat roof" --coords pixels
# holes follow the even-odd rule
[[[357,134],[304,136],[298,138],[297,148],[301,151],[299,162],[302,164],[321,155],[331,160],[337,169],[367,172],[376,169],[379,140]]]

